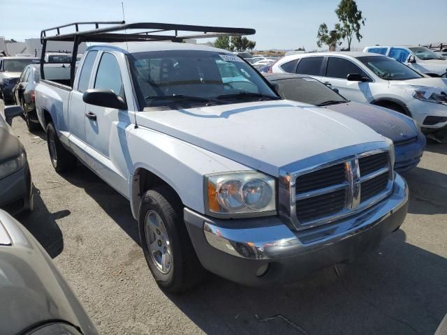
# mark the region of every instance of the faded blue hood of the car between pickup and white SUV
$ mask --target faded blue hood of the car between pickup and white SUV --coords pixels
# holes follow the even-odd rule
[[[323,108],[352,117],[393,142],[418,135],[418,129],[414,126],[411,118],[387,108],[352,101]]]

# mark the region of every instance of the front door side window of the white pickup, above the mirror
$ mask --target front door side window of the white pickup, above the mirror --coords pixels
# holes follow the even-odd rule
[[[119,70],[117,58],[109,52],[104,52],[99,62],[98,71],[94,84],[95,89],[111,89],[123,100],[124,85]]]

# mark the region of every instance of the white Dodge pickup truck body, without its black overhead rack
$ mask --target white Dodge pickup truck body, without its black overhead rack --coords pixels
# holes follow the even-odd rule
[[[406,216],[390,140],[281,100],[225,50],[94,45],[73,87],[41,80],[36,106],[54,168],[78,159],[129,199],[170,292],[204,268],[246,285],[295,281],[372,250]]]

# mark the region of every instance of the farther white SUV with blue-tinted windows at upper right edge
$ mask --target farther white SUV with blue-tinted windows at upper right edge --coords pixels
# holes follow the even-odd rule
[[[383,54],[430,77],[447,77],[447,59],[421,46],[409,47],[365,47],[363,52]]]

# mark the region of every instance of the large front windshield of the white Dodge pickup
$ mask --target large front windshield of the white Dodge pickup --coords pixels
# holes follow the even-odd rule
[[[129,59],[146,107],[278,98],[256,70],[233,54],[168,50],[138,52]]]

